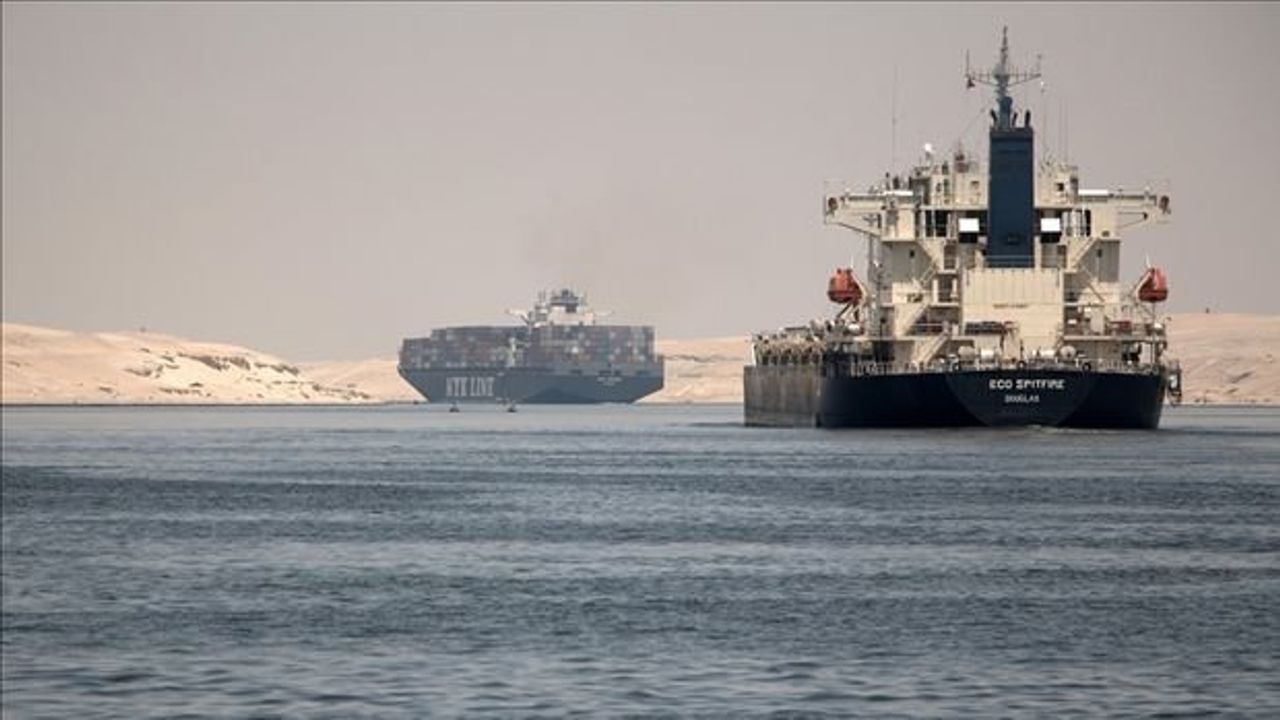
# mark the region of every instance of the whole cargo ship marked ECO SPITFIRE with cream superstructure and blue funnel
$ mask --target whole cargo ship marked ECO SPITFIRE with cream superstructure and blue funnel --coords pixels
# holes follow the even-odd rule
[[[968,63],[966,63],[968,65]],[[1080,187],[1036,161],[1010,88],[1005,29],[986,167],[956,145],[867,190],[827,183],[824,224],[867,240],[867,282],[837,268],[828,318],[753,337],[748,425],[1156,428],[1181,397],[1165,357],[1165,273],[1120,273],[1121,232],[1162,223],[1169,196]],[[863,186],[867,187],[867,186]]]

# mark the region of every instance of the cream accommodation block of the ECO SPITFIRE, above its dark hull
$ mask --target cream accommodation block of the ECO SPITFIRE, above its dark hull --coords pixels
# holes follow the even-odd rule
[[[1032,137],[1025,128],[1015,140]],[[1167,197],[1082,190],[1076,168],[1056,160],[1032,170],[1021,215],[992,197],[1021,193],[1005,187],[1016,178],[988,173],[963,150],[861,192],[828,183],[826,223],[870,240],[865,342],[918,364],[969,352],[1047,357],[1068,346],[1120,360],[1123,341],[1155,342],[1151,307],[1120,277],[1120,233],[1164,218]]]

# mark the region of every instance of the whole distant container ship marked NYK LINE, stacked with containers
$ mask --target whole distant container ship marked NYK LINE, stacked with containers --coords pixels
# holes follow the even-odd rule
[[[431,331],[401,345],[402,378],[431,402],[634,402],[662,389],[649,325],[607,325],[586,297],[539,295],[517,325]]]

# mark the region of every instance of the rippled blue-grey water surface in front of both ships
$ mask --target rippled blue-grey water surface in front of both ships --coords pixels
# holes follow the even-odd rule
[[[1280,410],[6,409],[3,710],[1280,715]]]

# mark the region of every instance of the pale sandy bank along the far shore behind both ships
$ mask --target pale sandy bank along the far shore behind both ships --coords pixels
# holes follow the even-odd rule
[[[1185,401],[1280,405],[1280,315],[1183,314],[1170,322]],[[659,340],[666,387],[643,402],[741,402],[744,337]],[[3,402],[416,402],[394,359],[293,365],[244,347],[156,333],[4,324]]]

